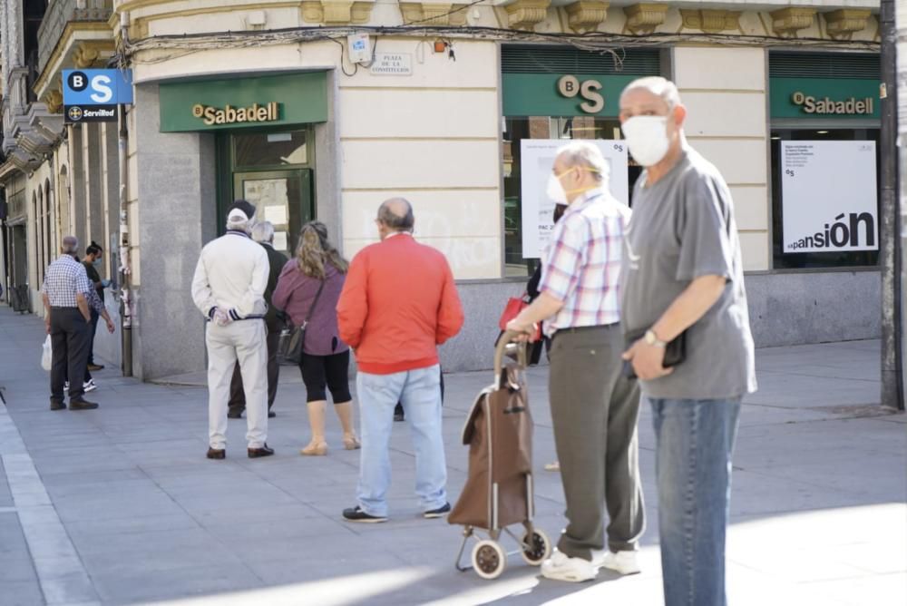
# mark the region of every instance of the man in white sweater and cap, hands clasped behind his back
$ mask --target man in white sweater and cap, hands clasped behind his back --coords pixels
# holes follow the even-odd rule
[[[201,249],[192,279],[192,300],[208,318],[208,458],[222,459],[227,446],[230,377],[239,360],[246,393],[249,458],[270,456],[268,448],[268,346],[265,288],[268,254],[249,238],[255,207],[230,205],[227,233]]]

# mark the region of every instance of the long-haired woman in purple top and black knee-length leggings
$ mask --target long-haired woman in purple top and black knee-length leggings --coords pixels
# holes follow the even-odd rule
[[[346,259],[328,241],[325,224],[310,221],[299,232],[296,259],[284,266],[271,298],[274,307],[283,309],[295,326],[302,326],[308,318],[299,361],[312,428],[311,441],[300,451],[305,455],[327,454],[326,386],[343,427],[344,448],[359,448],[353,430],[353,397],[349,393],[349,346],[337,333],[336,304],[347,268]]]

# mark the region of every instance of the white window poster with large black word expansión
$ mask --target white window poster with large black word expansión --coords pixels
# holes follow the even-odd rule
[[[878,250],[873,141],[781,142],[784,251]]]

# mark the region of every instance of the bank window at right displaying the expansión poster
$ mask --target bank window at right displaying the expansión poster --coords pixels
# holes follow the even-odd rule
[[[846,267],[876,267],[879,262],[878,251],[878,218],[879,218],[879,129],[877,128],[792,128],[783,129],[775,128],[772,130],[772,231],[773,238],[773,257],[775,269],[827,269],[827,268],[846,268]],[[865,153],[872,153],[871,147],[874,146],[874,167],[870,168],[869,179],[864,174],[866,171],[858,173],[848,172],[847,181],[850,185],[858,189],[861,197],[873,197],[875,203],[871,209],[863,209],[861,212],[845,212],[847,209],[829,208],[823,209],[812,220],[806,218],[803,221],[808,224],[808,230],[802,230],[804,233],[785,234],[785,210],[792,213],[792,217],[786,221],[787,230],[792,231],[792,225],[797,222],[793,220],[793,214],[798,210],[795,208],[797,200],[795,195],[791,194],[792,188],[785,184],[785,179],[793,181],[798,179],[796,161],[786,161],[784,159],[785,150],[790,153],[808,155],[809,161],[820,161],[823,156],[814,154],[814,146],[811,149],[809,143],[799,146],[796,142],[853,142],[853,145],[844,146],[844,152],[855,150],[859,153],[861,148]],[[861,142],[866,142],[863,144]],[[814,154],[814,155],[812,155]],[[824,157],[828,158],[826,154]],[[817,167],[817,174],[821,176],[822,171],[828,172],[831,177],[833,173],[840,171],[855,171],[853,167],[841,166],[841,162],[846,163],[844,159],[835,159],[834,164],[828,163],[826,166]],[[875,187],[872,192],[865,191],[872,185],[866,184],[872,181],[872,171],[875,173]],[[785,174],[787,171],[787,174]],[[790,173],[794,173],[793,175]],[[815,178],[815,177],[813,177]],[[820,183],[821,184],[821,183]],[[855,184],[855,185],[854,185]],[[785,187],[786,185],[786,187]],[[788,191],[788,199],[785,200],[785,191]],[[806,191],[807,198],[809,191]],[[799,193],[802,197],[804,193]],[[815,191],[815,196],[822,197],[820,191]],[[822,200],[810,200],[815,204],[821,204]],[[827,216],[824,216],[827,215]],[[856,247],[872,246],[873,250],[854,250]],[[805,252],[798,251],[798,248],[806,249]]]

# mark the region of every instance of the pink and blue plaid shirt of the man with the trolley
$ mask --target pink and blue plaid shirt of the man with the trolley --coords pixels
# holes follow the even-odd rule
[[[545,323],[547,334],[620,321],[618,280],[629,215],[628,206],[592,190],[574,201],[554,226],[539,291],[564,306]]]

